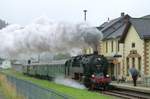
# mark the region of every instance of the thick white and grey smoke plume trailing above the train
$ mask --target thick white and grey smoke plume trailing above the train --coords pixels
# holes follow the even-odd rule
[[[100,31],[85,23],[56,23],[42,16],[26,26],[13,24],[0,30],[0,55],[70,52],[94,47],[101,38]]]

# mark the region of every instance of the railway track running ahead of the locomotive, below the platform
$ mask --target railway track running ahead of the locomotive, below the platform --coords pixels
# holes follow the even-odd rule
[[[120,97],[121,99],[150,99],[150,94],[131,90],[109,90],[103,91],[103,94]]]

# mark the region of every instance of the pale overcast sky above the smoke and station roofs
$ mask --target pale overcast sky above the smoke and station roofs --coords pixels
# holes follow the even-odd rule
[[[133,17],[150,14],[150,0],[0,0],[0,19],[26,25],[46,15],[57,22],[77,23],[83,21],[84,9],[88,10],[87,21],[98,26],[121,12]]]

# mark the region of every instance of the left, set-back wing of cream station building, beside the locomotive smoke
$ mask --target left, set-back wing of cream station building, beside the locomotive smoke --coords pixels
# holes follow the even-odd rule
[[[125,73],[123,58],[124,44],[120,43],[120,38],[129,19],[129,15],[121,13],[120,17],[108,20],[97,27],[103,33],[103,40],[99,45],[98,51],[109,60],[109,73],[114,79],[119,78],[119,76],[124,76]]]

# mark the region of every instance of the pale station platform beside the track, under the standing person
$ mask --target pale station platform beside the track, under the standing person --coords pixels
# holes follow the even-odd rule
[[[112,82],[111,85],[119,89],[126,89],[150,94],[150,86],[142,86],[141,84],[133,86],[133,83],[117,83],[115,81]]]

